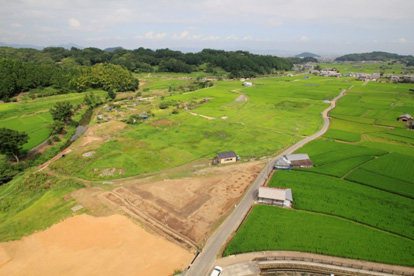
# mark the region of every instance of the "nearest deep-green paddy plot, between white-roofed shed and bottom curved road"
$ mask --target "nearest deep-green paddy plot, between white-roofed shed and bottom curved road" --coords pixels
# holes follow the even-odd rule
[[[294,250],[414,265],[413,240],[338,217],[259,205],[224,255],[261,250]]]

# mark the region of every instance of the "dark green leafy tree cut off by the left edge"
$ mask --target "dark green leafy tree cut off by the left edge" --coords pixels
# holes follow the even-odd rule
[[[25,132],[0,128],[0,153],[13,155],[16,162],[19,163],[20,151],[28,140],[29,136]]]

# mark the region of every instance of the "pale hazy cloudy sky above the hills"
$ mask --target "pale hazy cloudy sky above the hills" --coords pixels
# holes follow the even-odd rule
[[[0,0],[0,42],[414,55],[412,0]]]

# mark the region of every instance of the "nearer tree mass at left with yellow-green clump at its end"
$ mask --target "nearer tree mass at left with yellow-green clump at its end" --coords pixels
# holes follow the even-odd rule
[[[98,63],[65,68],[59,63],[36,64],[0,58],[0,99],[5,102],[33,88],[52,86],[62,94],[88,88],[123,92],[135,91],[138,84],[138,79],[120,65]]]

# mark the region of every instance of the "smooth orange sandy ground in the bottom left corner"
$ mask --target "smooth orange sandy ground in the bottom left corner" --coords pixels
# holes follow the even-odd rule
[[[193,254],[121,216],[80,215],[0,243],[0,275],[171,275]]]

